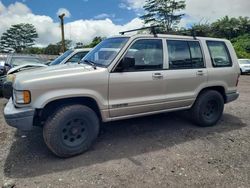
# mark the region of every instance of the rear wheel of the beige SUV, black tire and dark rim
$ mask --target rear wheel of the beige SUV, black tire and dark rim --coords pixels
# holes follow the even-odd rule
[[[200,127],[211,127],[220,120],[224,110],[222,95],[214,90],[202,92],[196,99],[191,114]]]

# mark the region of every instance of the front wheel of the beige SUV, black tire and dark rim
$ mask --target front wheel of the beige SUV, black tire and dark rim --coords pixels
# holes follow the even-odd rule
[[[48,148],[66,158],[87,151],[99,133],[99,119],[87,106],[68,105],[55,111],[43,127]]]

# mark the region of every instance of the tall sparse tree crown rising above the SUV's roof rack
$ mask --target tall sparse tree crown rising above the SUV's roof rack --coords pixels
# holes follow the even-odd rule
[[[145,24],[160,25],[163,31],[173,31],[180,22],[185,9],[184,0],[147,0],[144,5],[145,14],[141,16]]]

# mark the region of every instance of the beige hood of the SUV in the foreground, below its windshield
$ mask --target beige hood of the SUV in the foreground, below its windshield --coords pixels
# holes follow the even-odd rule
[[[94,69],[92,66],[85,64],[64,64],[26,70],[16,74],[14,88],[24,89],[26,87],[35,87],[35,85],[64,83],[67,80],[74,80],[79,78],[79,76],[98,72],[102,69],[104,68],[98,67]]]

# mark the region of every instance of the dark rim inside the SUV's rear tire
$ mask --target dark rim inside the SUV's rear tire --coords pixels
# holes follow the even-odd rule
[[[207,120],[214,120],[218,116],[219,106],[216,100],[209,100],[203,110],[203,116]]]

